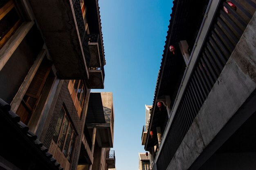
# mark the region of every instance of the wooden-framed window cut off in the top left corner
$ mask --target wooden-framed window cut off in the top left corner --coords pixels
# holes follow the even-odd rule
[[[21,23],[13,0],[0,1],[0,48],[6,43]]]

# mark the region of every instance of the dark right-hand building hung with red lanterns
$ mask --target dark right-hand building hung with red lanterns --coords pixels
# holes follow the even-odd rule
[[[153,170],[255,169],[255,9],[173,1],[145,139]]]

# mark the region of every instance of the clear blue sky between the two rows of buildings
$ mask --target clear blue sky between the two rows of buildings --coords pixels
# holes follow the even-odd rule
[[[102,91],[113,92],[117,170],[138,170],[138,153],[145,152],[145,104],[153,103],[172,5],[172,0],[99,0],[106,56]]]

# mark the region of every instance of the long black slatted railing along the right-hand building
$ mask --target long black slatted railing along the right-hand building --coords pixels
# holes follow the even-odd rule
[[[175,112],[171,128],[168,133],[165,132],[167,133],[166,140],[157,159],[158,170],[166,170],[168,167],[255,12],[256,4],[251,0],[233,0],[232,2],[236,5],[237,10],[224,1],[218,7],[197,63]],[[225,12],[224,7],[229,13]]]

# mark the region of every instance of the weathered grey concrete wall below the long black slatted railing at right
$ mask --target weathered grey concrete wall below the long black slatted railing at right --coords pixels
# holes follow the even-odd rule
[[[256,88],[256,13],[175,153],[168,170],[186,170]]]

